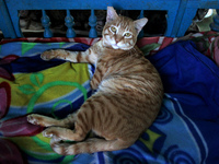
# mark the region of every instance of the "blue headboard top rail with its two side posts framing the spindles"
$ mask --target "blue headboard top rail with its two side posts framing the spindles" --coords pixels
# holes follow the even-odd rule
[[[165,36],[175,36],[178,28],[175,21],[181,1],[184,0],[5,0],[18,37],[23,37],[19,26],[19,10],[106,10],[108,5],[117,10],[165,10],[168,27]]]

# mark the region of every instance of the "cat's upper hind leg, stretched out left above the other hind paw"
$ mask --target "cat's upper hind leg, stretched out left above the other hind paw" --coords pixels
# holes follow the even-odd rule
[[[65,119],[58,120],[47,116],[31,114],[27,116],[27,121],[33,125],[42,127],[59,126],[59,127],[72,127],[74,124],[74,114],[69,115]]]

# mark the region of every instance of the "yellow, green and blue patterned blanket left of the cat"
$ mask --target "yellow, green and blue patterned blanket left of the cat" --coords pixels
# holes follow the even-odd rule
[[[54,153],[49,140],[39,133],[42,127],[27,124],[26,114],[62,118],[91,95],[88,65],[57,59],[43,61],[39,54],[51,48],[84,50],[88,47],[76,43],[10,43],[1,46],[4,57],[0,61],[0,134],[16,143],[28,163],[36,160],[68,163],[73,156]]]

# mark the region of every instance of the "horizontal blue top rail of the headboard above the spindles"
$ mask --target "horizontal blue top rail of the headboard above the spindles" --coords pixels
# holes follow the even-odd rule
[[[175,4],[178,4],[180,0],[5,0],[5,2],[18,10],[42,10],[42,8],[44,10],[104,10],[108,5],[122,10],[170,10],[177,8]]]

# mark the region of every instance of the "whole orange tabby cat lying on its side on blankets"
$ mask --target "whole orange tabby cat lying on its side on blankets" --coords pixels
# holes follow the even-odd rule
[[[117,15],[108,7],[103,39],[87,51],[57,49],[42,54],[45,60],[60,58],[96,67],[91,86],[97,91],[76,114],[62,120],[36,114],[27,117],[34,125],[49,127],[43,134],[51,138],[55,152],[70,155],[126,149],[155,119],[163,96],[162,82],[154,67],[135,46],[147,21]],[[84,140],[89,131],[102,138]],[[62,142],[66,140],[81,142]]]

